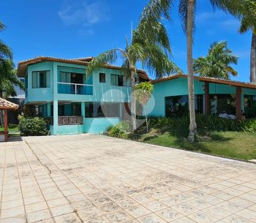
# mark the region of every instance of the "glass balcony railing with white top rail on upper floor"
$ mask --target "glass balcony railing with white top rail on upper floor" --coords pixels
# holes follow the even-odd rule
[[[83,94],[92,95],[93,86],[89,84],[82,83],[58,83],[58,93],[59,94]]]

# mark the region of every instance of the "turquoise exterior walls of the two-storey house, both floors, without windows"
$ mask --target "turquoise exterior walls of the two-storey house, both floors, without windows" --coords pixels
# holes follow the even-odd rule
[[[50,71],[49,88],[32,88],[33,71]],[[82,116],[85,117],[85,102],[129,102],[131,88],[127,86],[112,86],[111,74],[120,75],[116,69],[102,68],[91,75],[93,94],[59,94],[58,82],[60,82],[60,72],[75,72],[85,75],[86,67],[77,64],[66,64],[59,62],[42,62],[30,65],[27,69],[26,77],[26,104],[42,105],[43,116],[50,116],[50,106],[53,103],[53,125],[50,126],[52,135],[72,135],[84,132],[101,133],[110,125],[115,125],[120,118],[84,118],[83,125],[58,125],[58,102],[81,102]],[[99,83],[99,72],[105,73],[105,83]],[[86,78],[84,78],[86,81]],[[88,83],[91,84],[91,83]],[[65,106],[65,116],[71,114],[72,107]]]

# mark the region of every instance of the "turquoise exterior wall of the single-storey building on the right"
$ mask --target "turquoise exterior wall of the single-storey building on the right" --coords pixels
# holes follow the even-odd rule
[[[204,82],[195,79],[195,94],[204,94]],[[209,84],[210,94],[236,94],[236,87],[225,84]],[[187,95],[187,78],[177,78],[154,84],[154,92],[148,100],[148,116],[165,116],[165,97]],[[244,108],[244,94],[256,95],[256,90],[242,88],[242,107]]]

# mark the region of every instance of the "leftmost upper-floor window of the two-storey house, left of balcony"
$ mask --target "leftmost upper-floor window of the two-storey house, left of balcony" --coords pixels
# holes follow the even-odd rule
[[[50,71],[33,71],[32,88],[50,88]]]

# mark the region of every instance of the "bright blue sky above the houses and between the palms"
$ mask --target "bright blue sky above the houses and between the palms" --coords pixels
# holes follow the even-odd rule
[[[0,20],[7,29],[0,38],[10,45],[15,64],[36,56],[79,58],[97,56],[111,48],[123,48],[146,5],[143,0],[1,0]],[[173,61],[187,72],[186,37],[181,29],[177,4],[166,22]],[[239,34],[239,22],[214,10],[209,1],[197,0],[194,58],[204,56],[209,45],[227,40],[239,57],[238,78],[249,81],[251,33]],[[152,77],[152,76],[151,76]]]

